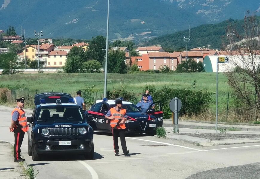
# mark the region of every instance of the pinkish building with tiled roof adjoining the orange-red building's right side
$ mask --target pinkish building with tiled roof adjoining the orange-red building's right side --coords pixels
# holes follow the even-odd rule
[[[169,52],[150,52],[149,55],[149,69],[159,70],[162,66],[172,66],[172,61]]]

